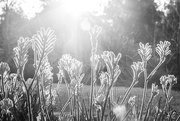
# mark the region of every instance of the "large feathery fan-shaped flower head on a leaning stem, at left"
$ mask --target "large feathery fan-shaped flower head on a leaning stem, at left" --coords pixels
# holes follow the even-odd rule
[[[36,71],[33,80],[28,88],[28,91],[31,89],[31,86],[37,78],[43,59],[46,58],[50,52],[53,51],[55,41],[56,36],[54,35],[54,31],[49,28],[47,30],[41,28],[41,30],[33,36],[34,66]]]

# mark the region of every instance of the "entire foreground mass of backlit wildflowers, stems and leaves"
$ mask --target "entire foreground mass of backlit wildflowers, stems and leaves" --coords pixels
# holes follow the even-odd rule
[[[138,54],[141,61],[133,62],[133,80],[130,87],[126,90],[123,98],[116,100],[114,85],[121,74],[119,61],[121,53],[117,56],[111,51],[104,51],[98,55],[98,35],[100,27],[90,30],[91,35],[91,88],[89,104],[83,97],[82,80],[84,78],[83,63],[73,58],[71,55],[63,55],[58,62],[59,82],[57,88],[52,88],[53,73],[48,60],[48,55],[53,51],[56,36],[51,29],[41,28],[32,38],[20,37],[17,47],[14,48],[14,63],[17,68],[16,73],[10,73],[9,65],[5,62],[0,63],[1,94],[0,94],[0,119],[4,121],[113,121],[113,120],[136,120],[136,121],[164,121],[178,120],[180,116],[171,109],[172,86],[177,83],[174,75],[164,75],[160,78],[163,95],[156,107],[154,100],[159,95],[158,86],[152,84],[151,97],[148,104],[147,85],[158,68],[165,62],[171,53],[169,50],[170,42],[160,41],[156,46],[159,55],[159,63],[152,72],[147,73],[148,61],[152,57],[152,46],[149,43],[139,43]],[[24,69],[28,61],[28,50],[34,51],[34,70],[33,78],[25,80]],[[100,58],[104,61],[107,71],[97,74]],[[140,75],[144,74],[144,88],[141,106],[137,109],[136,97],[130,97],[133,87],[139,82]],[[100,87],[97,88],[97,77],[100,76]],[[58,116],[54,114],[56,97],[58,90],[64,80],[68,90],[68,100],[61,108]],[[130,98],[129,98],[130,97]],[[165,103],[162,100],[165,100]],[[129,106],[128,106],[129,104]],[[164,105],[164,106],[161,106]],[[163,108],[162,108],[163,107]],[[68,112],[66,112],[68,110]]]

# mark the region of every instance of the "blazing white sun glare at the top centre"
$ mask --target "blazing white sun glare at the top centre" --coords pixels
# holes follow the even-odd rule
[[[62,10],[75,17],[87,12],[101,14],[107,2],[108,0],[62,0]]]

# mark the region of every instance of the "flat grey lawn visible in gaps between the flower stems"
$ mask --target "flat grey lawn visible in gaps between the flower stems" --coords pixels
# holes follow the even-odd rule
[[[56,84],[53,84],[53,88],[56,88]],[[99,88],[99,87],[97,87]],[[121,99],[123,98],[126,90],[128,88],[127,87],[114,87],[114,96],[115,96],[115,100],[117,101],[119,98],[119,102],[121,101]],[[65,102],[68,100],[68,92],[66,89],[66,85],[62,84],[59,88],[58,88],[58,97],[56,99],[56,111],[58,112],[63,105],[65,104]],[[83,98],[85,99],[85,102],[87,103],[87,105],[89,104],[89,95],[90,95],[90,86],[84,85],[81,91]],[[142,93],[143,93],[143,89],[142,88],[133,88],[129,97],[130,96],[136,96],[136,103],[138,104],[138,107],[140,107],[141,104],[141,99],[142,99]],[[147,99],[146,99],[146,103],[148,103],[148,100],[150,98],[151,95],[151,89],[148,89],[147,92]],[[174,110],[176,110],[177,112],[180,113],[180,92],[179,91],[172,91],[172,96],[173,99],[170,102],[170,105],[172,106],[172,108]],[[159,95],[157,96],[157,98],[154,100],[154,105],[158,105],[158,99],[160,97],[163,97],[164,99],[164,95],[162,93],[162,90],[159,91]],[[129,99],[129,98],[128,98]],[[127,102],[127,101],[126,101]],[[162,103],[161,103],[162,104]],[[163,106],[163,104],[162,104]]]

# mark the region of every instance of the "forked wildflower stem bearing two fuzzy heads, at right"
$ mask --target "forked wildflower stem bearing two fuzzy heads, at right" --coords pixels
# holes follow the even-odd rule
[[[158,63],[158,65],[156,65],[156,67],[153,69],[153,71],[147,75],[147,61],[151,58],[151,54],[152,54],[152,49],[151,46],[147,43],[147,44],[142,44],[140,43],[140,49],[138,50],[139,55],[141,56],[142,62],[144,63],[144,91],[143,91],[143,98],[142,98],[142,104],[141,104],[141,111],[140,111],[140,115],[139,115],[139,120],[141,120],[142,118],[142,112],[143,112],[143,108],[144,108],[144,100],[146,99],[146,92],[147,92],[147,84],[148,81],[150,80],[150,78],[155,74],[155,72],[157,71],[157,69],[162,65],[162,63],[164,63],[167,55],[169,55],[171,53],[171,51],[169,50],[169,46],[171,45],[170,42],[168,41],[160,41],[159,44],[157,44],[156,47],[156,52],[158,53],[159,57],[160,57],[160,61]]]

